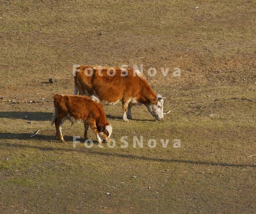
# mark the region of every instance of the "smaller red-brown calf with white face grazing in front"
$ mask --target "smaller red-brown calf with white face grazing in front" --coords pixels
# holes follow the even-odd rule
[[[107,141],[112,134],[112,126],[106,119],[104,106],[96,96],[73,96],[55,94],[53,96],[56,139],[64,142],[61,126],[66,119],[73,123],[84,122],[84,138],[87,139],[88,127],[92,128],[99,144]]]

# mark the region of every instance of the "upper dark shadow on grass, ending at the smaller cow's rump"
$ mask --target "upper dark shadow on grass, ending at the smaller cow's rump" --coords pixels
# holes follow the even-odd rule
[[[5,111],[0,118],[47,121],[52,119],[53,112]]]

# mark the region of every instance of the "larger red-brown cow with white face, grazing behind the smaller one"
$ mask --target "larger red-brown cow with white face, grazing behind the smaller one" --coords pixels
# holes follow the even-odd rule
[[[74,94],[96,95],[103,104],[122,100],[123,120],[131,119],[131,107],[144,104],[157,120],[163,120],[163,102],[139,70],[100,66],[77,66]]]

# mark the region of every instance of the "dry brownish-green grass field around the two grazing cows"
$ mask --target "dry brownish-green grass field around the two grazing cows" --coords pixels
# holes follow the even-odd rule
[[[254,0],[1,0],[0,26],[0,213],[255,213]],[[61,144],[74,64],[143,66],[170,114],[106,106],[113,148]]]

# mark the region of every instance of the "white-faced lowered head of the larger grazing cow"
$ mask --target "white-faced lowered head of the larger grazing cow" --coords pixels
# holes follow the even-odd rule
[[[156,120],[163,120],[163,102],[163,96],[158,94],[156,98],[150,99],[149,104],[146,104],[147,110]]]

